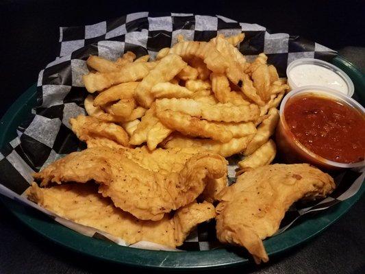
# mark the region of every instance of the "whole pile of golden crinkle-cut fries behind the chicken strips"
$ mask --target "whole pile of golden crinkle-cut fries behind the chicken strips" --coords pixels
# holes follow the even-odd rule
[[[91,55],[90,73],[83,76],[90,92],[85,108],[99,129],[87,121],[84,129],[97,134],[108,127],[108,138],[128,147],[243,153],[242,171],[269,164],[276,153],[270,136],[279,120],[277,106],[289,87],[264,53],[247,62],[237,48],[243,39],[244,34],[218,35],[197,42],[179,36],[152,61],[131,52],[114,62]]]

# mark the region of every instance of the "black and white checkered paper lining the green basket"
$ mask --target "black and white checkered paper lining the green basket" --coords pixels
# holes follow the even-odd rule
[[[60,56],[48,64],[38,77],[38,105],[19,125],[18,136],[1,149],[0,193],[37,208],[86,236],[106,237],[119,245],[127,245],[121,239],[55,216],[21,196],[32,183],[34,171],[83,147],[68,121],[71,117],[86,113],[83,104],[87,92],[81,81],[81,75],[88,73],[86,59],[89,55],[99,55],[116,60],[126,51],[133,51],[138,57],[148,53],[154,58],[160,49],[174,45],[179,34],[186,40],[207,41],[217,34],[229,36],[241,32],[244,32],[245,38],[239,49],[247,59],[253,60],[259,53],[266,53],[268,63],[277,67],[281,77],[286,76],[287,65],[298,58],[331,60],[336,56],[335,51],[316,42],[289,34],[270,34],[260,25],[238,23],[223,16],[138,12],[95,25],[61,27]],[[237,160],[237,157],[229,159],[229,182],[235,180]],[[336,177],[338,188],[330,197],[312,205],[297,204],[292,207],[282,221],[279,232],[288,229],[299,216],[325,210],[353,196],[360,189],[364,177],[364,169],[341,173]],[[149,242],[131,246],[169,250]],[[219,244],[212,221],[199,225],[181,249],[207,250],[217,247]]]

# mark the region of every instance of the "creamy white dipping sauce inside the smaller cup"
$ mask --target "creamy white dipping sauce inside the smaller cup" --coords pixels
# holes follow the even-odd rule
[[[327,88],[333,88],[344,94],[349,93],[344,79],[337,73],[326,69],[323,66],[317,66],[315,64],[300,64],[294,66],[290,72],[289,77],[295,86],[326,86]]]

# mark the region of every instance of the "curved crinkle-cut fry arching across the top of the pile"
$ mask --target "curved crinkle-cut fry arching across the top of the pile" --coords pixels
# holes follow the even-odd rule
[[[170,53],[175,53],[185,60],[201,58],[207,64],[207,68],[216,73],[224,73],[227,68],[225,58],[216,50],[212,42],[178,42],[170,49]]]

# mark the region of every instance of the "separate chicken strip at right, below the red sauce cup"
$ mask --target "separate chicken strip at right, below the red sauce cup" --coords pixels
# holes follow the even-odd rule
[[[325,197],[334,188],[331,176],[309,164],[273,164],[247,171],[218,195],[218,240],[246,247],[257,264],[267,262],[262,240],[277,232],[292,203]]]

